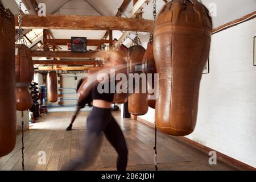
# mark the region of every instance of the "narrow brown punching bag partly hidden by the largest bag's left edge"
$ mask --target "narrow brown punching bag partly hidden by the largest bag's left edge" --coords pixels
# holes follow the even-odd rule
[[[143,69],[144,73],[152,75],[151,83],[149,84],[149,82],[147,81],[148,82],[147,89],[154,90],[154,88],[155,88],[154,74],[156,73],[156,69],[155,69],[155,60],[154,60],[154,55],[153,55],[152,41],[147,44],[147,49],[146,49],[146,52],[145,52],[144,57],[143,57],[143,64],[144,64],[144,69]],[[149,107],[155,109],[155,99],[150,99],[150,95],[154,95],[154,93],[150,94],[148,92],[147,105]]]

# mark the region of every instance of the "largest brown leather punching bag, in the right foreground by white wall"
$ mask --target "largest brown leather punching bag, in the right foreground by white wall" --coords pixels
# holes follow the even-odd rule
[[[168,2],[156,20],[154,58],[159,73],[155,123],[164,133],[191,134],[196,126],[199,86],[209,57],[212,19],[197,0]]]

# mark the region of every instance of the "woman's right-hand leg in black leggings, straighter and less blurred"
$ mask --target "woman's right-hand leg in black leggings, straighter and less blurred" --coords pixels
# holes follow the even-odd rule
[[[114,147],[115,151],[117,151],[117,170],[125,171],[127,166],[128,150],[122,130],[120,129],[113,116],[109,124],[106,126],[104,133],[110,144],[112,144]]]

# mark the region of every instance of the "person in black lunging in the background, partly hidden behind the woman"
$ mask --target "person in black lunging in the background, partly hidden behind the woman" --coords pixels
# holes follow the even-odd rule
[[[76,88],[76,92],[78,92],[80,86],[82,85],[82,82],[84,81],[84,79],[80,79],[79,83],[77,84],[77,88]],[[89,107],[92,107],[92,93],[90,92],[89,96],[82,102],[77,103],[76,106],[76,111],[75,113],[72,115],[72,119],[71,119],[71,123],[69,124],[69,126],[67,127],[67,131],[72,130],[73,127],[73,123],[75,122],[75,119],[77,117],[77,115],[79,114],[79,111],[85,107],[85,105],[88,104]]]

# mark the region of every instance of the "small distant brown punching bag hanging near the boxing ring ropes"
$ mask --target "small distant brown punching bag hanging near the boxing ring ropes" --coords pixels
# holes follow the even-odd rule
[[[56,71],[49,71],[47,75],[47,97],[49,102],[57,102],[57,73]]]

